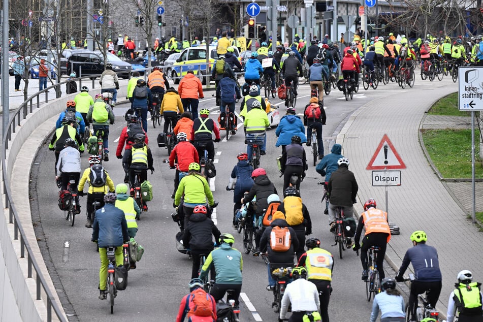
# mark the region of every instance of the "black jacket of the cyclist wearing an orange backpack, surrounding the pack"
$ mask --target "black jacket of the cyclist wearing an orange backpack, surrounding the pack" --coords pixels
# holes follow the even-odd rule
[[[272,232],[272,228],[275,226],[288,227],[288,230],[290,232],[290,238],[292,242],[290,245],[290,249],[288,249],[285,252],[272,251],[272,249],[270,248],[270,233]],[[273,220],[272,223],[270,224],[270,227],[265,229],[265,231],[262,234],[262,238],[260,239],[260,249],[262,251],[265,251],[265,249],[267,249],[268,258],[271,264],[293,263],[295,249],[298,249],[298,248],[299,248],[299,239],[297,238],[297,234],[295,233],[295,230],[292,227],[288,226],[288,223],[284,219]]]

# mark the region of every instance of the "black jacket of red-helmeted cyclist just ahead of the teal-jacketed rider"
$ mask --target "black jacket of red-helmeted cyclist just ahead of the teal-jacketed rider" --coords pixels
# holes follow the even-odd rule
[[[220,231],[213,221],[203,213],[194,213],[189,216],[184,230],[183,245],[189,245],[191,250],[213,249],[212,234],[218,242]]]

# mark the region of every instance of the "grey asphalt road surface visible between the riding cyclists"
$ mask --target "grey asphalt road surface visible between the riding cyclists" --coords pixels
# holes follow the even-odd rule
[[[421,83],[421,80],[416,84]],[[429,83],[429,82],[428,82]],[[426,84],[425,84],[426,85]],[[410,91],[406,89],[405,91]],[[310,96],[308,85],[299,87],[297,112],[301,115]],[[342,128],[348,116],[360,106],[380,98],[388,98],[393,92],[400,92],[396,84],[380,85],[377,90],[364,91],[361,86],[353,101],[346,102],[342,92],[333,90],[325,98],[327,125],[324,127],[324,147],[326,154],[334,144],[337,133]],[[213,112],[211,117],[217,118],[214,99],[200,102],[200,109],[206,107]],[[272,100],[272,104],[281,106],[283,103]],[[114,183],[122,182],[123,171],[121,160],[115,158],[117,138],[125,126],[123,115],[127,105],[119,105],[114,109],[116,123],[110,128],[109,162],[103,163]],[[237,106],[237,110],[238,110]],[[63,219],[63,212],[57,207],[57,187],[54,181],[53,152],[45,145],[37,156],[33,171],[31,187],[31,204],[33,221],[37,229],[37,237],[41,244],[44,259],[48,265],[63,307],[72,320],[105,321],[105,320],[175,320],[179,302],[188,292],[187,282],[190,279],[191,262],[186,255],[179,253],[175,247],[177,224],[171,219],[173,211],[170,195],[173,191],[174,170],[170,170],[163,161],[168,158],[165,148],[158,148],[156,136],[159,127],[152,128],[148,124],[149,146],[153,151],[154,175],[148,179],[153,184],[154,200],[148,203],[149,211],[142,214],[139,221],[139,231],[136,239],[145,248],[145,253],[138,268],[129,272],[129,285],[125,291],[119,291],[116,298],[114,315],[109,314],[107,301],[98,299],[99,255],[90,242],[91,229],[85,224],[85,197],[81,198],[82,213],[76,216],[74,227],[70,227]],[[242,133],[242,132],[241,132]],[[244,138],[240,132],[232,136],[228,142],[223,140],[215,143],[215,165],[217,176],[214,186],[214,198],[219,201],[216,208],[217,226],[221,232],[234,234],[235,247],[243,252],[242,237],[231,227],[233,193],[226,191],[230,172],[236,164],[236,155],[245,150]],[[275,147],[275,131],[268,131],[267,155],[262,157],[261,166],[267,170],[270,179],[278,191],[282,190],[282,178],[276,166],[275,157],[280,154],[280,148]],[[223,139],[224,134],[222,134]],[[116,140],[116,143],[113,141]],[[305,147],[307,158],[311,151]],[[87,167],[87,157],[82,156],[83,169]],[[350,168],[349,168],[350,169]],[[365,284],[361,281],[361,264],[359,257],[349,250],[345,251],[342,260],[338,257],[338,248],[333,244],[333,235],[329,233],[328,219],[323,214],[320,204],[321,186],[317,182],[321,177],[309,164],[307,177],[301,185],[302,199],[308,207],[312,218],[313,235],[321,239],[323,248],[334,254],[334,289],[329,305],[329,314],[333,321],[367,320],[370,316],[371,303],[365,296]],[[367,184],[367,183],[359,183]],[[370,184],[370,183],[369,183]],[[396,238],[398,238],[396,236]],[[242,321],[276,321],[277,315],[271,309],[273,296],[265,287],[267,281],[266,265],[259,257],[243,254],[243,287],[240,319]],[[247,304],[247,302],[249,302]]]

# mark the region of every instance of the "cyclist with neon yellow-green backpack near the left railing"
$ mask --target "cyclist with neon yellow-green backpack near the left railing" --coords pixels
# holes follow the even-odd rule
[[[114,113],[106,104],[101,95],[95,95],[94,105],[87,112],[87,120],[92,122],[94,134],[98,131],[103,133],[104,161],[109,161],[109,124],[114,124]]]

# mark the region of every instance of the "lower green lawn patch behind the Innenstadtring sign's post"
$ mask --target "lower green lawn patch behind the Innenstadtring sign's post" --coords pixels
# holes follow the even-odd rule
[[[471,178],[471,130],[423,130],[423,141],[443,178]],[[475,177],[483,178],[475,130]]]

